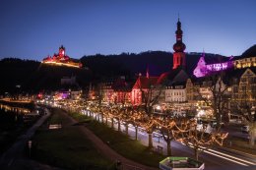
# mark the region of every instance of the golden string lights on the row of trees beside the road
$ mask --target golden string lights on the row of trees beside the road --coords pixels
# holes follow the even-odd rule
[[[96,112],[99,109],[96,106]],[[206,149],[207,147],[217,143],[223,145],[224,139],[227,134],[221,134],[219,132],[207,134],[207,126],[203,126],[202,130],[197,130],[197,122],[195,119],[182,119],[177,120],[175,118],[162,118],[160,116],[148,115],[145,111],[132,110],[127,108],[111,108],[110,111],[107,107],[101,107],[101,114],[105,116],[111,116],[121,122],[131,122],[134,127],[140,126],[151,135],[155,129],[160,131],[171,132],[172,137],[177,142],[184,142],[188,146],[196,147],[198,150]],[[169,137],[168,135],[167,137]],[[190,144],[188,144],[190,142]],[[191,144],[192,143],[192,144]],[[202,147],[203,146],[203,147]],[[207,146],[207,147],[204,147]]]

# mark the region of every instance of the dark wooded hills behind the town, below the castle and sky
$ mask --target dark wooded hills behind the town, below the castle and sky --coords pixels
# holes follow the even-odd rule
[[[191,75],[202,53],[187,53],[187,72]],[[206,59],[211,61],[224,56],[206,53]],[[256,45],[248,48],[241,56],[256,56]],[[90,55],[81,58],[83,66],[89,68],[76,69],[42,65],[33,60],[5,58],[0,60],[0,94],[4,92],[36,92],[52,90],[60,87],[60,79],[76,76],[81,87],[92,80],[109,77],[126,76],[136,79],[139,73],[146,75],[149,67],[150,76],[160,76],[172,67],[172,53],[164,51],[146,51],[139,54],[122,53],[118,55]],[[19,87],[21,85],[21,87]]]

